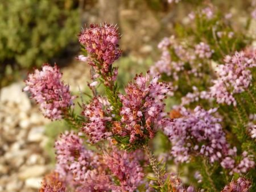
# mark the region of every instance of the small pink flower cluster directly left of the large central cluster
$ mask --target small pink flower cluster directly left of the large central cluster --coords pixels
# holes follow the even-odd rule
[[[82,114],[88,118],[88,122],[84,124],[82,132],[89,136],[92,143],[100,140],[108,139],[112,133],[106,128],[106,124],[111,122],[109,102],[105,98],[93,98],[88,105],[84,105]],[[106,108],[106,109],[104,109]]]

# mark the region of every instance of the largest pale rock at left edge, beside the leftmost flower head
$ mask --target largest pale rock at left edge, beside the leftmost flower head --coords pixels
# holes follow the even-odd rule
[[[23,87],[23,82],[17,82],[3,87],[0,93],[0,102],[15,102],[18,104],[20,111],[29,111],[31,109],[31,103],[27,94],[22,91]]]

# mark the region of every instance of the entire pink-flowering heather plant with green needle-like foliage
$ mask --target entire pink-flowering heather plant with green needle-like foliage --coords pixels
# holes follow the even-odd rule
[[[90,65],[92,81],[89,101],[77,102],[81,114],[74,110],[80,96],[71,94],[56,65],[28,74],[24,90],[43,115],[70,127],[55,142],[56,168],[40,191],[256,189],[256,49],[252,37],[204,6],[189,14],[190,26],[159,43],[160,60],[122,93],[117,27],[85,26],[77,59]],[[155,142],[166,143],[157,156]]]

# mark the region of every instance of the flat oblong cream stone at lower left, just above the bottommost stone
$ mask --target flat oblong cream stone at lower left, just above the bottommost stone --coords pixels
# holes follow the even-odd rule
[[[44,173],[46,173],[47,168],[43,165],[33,165],[33,166],[27,166],[23,167],[22,170],[18,173],[18,177],[20,180],[26,180],[30,177],[39,177],[43,176]]]

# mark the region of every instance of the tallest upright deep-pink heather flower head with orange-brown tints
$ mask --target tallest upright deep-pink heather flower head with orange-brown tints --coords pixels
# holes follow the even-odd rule
[[[118,48],[119,39],[117,28],[106,23],[103,26],[90,24],[90,28],[85,28],[79,35],[79,42],[90,54],[89,64],[101,74],[108,73],[110,65],[121,55],[121,49]]]

